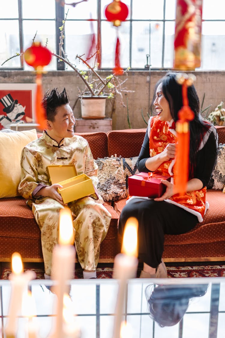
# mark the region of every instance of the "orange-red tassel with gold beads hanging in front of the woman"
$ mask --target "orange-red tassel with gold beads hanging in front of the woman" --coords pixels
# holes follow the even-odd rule
[[[178,112],[179,120],[176,122],[177,147],[174,165],[174,184],[180,195],[184,195],[187,189],[189,176],[189,121],[194,119],[194,112],[189,107],[188,86],[194,81],[194,75],[188,77],[186,74],[179,74],[177,82],[182,85],[183,106]]]

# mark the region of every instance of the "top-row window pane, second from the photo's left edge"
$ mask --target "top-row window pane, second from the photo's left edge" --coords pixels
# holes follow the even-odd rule
[[[55,0],[23,0],[22,11],[23,19],[54,19]]]

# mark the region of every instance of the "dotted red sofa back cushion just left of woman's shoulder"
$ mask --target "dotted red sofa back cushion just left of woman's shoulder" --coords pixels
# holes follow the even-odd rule
[[[146,128],[108,131],[109,156],[115,154],[124,158],[138,156],[145,133]]]

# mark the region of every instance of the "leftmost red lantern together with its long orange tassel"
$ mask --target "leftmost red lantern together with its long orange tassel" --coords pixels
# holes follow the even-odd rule
[[[36,122],[40,125],[41,129],[45,129],[46,111],[41,105],[43,99],[42,93],[42,73],[44,66],[47,66],[51,59],[52,53],[47,47],[41,46],[40,42],[33,42],[31,47],[27,48],[24,52],[24,59],[29,66],[34,67],[37,72],[36,83],[37,91],[35,98],[35,114]]]

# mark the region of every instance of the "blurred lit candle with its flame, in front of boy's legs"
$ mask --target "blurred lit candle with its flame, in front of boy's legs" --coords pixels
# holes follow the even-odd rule
[[[59,244],[53,249],[52,254],[52,275],[56,281],[54,292],[57,296],[57,317],[53,337],[62,338],[62,311],[63,295],[67,293],[68,280],[74,276],[75,247],[74,247],[73,219],[69,208],[65,207],[59,213]]]

